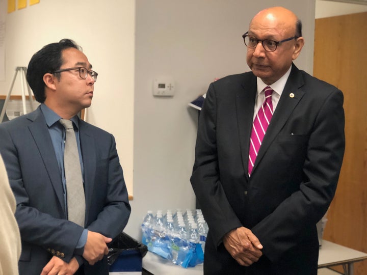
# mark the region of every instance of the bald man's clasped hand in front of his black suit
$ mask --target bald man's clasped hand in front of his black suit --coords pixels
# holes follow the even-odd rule
[[[263,255],[263,245],[251,230],[245,227],[228,232],[223,238],[223,244],[229,254],[243,266],[257,262]]]

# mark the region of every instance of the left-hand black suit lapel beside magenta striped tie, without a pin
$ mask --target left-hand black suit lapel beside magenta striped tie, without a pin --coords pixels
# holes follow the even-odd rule
[[[248,81],[247,81],[248,80]],[[246,83],[246,84],[245,84]],[[245,175],[248,178],[248,154],[252,129],[254,104],[256,98],[256,77],[251,74],[250,79],[244,78],[241,90],[236,94],[236,112],[240,135],[241,155]]]

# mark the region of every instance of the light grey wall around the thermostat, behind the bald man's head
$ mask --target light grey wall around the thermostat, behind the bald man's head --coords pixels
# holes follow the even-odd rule
[[[297,65],[312,72],[314,1],[279,1],[300,16],[306,39]],[[242,35],[271,0],[137,0],[135,48],[134,200],[126,232],[140,238],[148,209],[195,207],[189,181],[197,111],[188,103],[215,77],[248,71]],[[172,98],[154,98],[152,81],[175,79]]]

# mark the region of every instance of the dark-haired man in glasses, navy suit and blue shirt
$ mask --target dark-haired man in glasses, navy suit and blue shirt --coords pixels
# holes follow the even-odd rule
[[[130,205],[113,135],[77,116],[91,105],[96,78],[73,41],[48,44],[34,54],[27,72],[41,105],[0,124],[0,152],[17,204],[20,274],[109,273],[107,244],[127,224]],[[75,130],[84,226],[67,219],[65,130],[60,119],[71,120]]]

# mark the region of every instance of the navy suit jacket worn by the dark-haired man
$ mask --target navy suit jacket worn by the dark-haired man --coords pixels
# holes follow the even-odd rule
[[[130,214],[114,137],[80,120],[86,197],[85,228],[116,237]],[[0,124],[0,152],[16,198],[20,274],[39,275],[54,255],[69,262],[83,228],[66,220],[61,173],[40,108]],[[79,259],[82,259],[79,257]],[[108,274],[106,259],[85,274]]]

